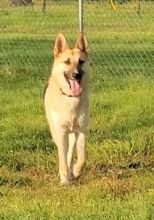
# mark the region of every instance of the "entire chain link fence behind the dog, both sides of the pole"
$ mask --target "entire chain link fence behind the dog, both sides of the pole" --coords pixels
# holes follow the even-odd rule
[[[83,1],[83,10],[92,72],[153,73],[153,1]],[[57,32],[76,39],[78,1],[1,0],[0,19],[2,68],[9,63],[44,68]]]

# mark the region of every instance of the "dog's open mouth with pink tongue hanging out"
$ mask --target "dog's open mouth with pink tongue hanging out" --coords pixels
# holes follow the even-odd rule
[[[65,75],[65,79],[68,82],[71,90],[71,96],[79,96],[81,94],[82,88],[80,86],[80,80],[70,79],[67,75]]]

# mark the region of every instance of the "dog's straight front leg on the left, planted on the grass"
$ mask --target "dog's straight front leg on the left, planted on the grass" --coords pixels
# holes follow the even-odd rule
[[[69,185],[69,171],[67,166],[68,152],[68,133],[65,131],[59,132],[58,135],[58,156],[59,156],[59,175],[62,185]]]

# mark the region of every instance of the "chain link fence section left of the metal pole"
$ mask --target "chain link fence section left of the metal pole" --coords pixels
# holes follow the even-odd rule
[[[40,1],[29,6],[10,2],[0,1],[1,67],[36,66],[49,74],[56,34],[76,35],[77,2],[48,1],[44,13]]]

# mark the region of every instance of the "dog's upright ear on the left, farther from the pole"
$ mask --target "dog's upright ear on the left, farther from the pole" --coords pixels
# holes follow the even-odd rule
[[[59,33],[55,41],[54,56],[57,57],[60,53],[62,53],[67,48],[69,48],[69,46],[67,44],[67,41],[64,35]]]

